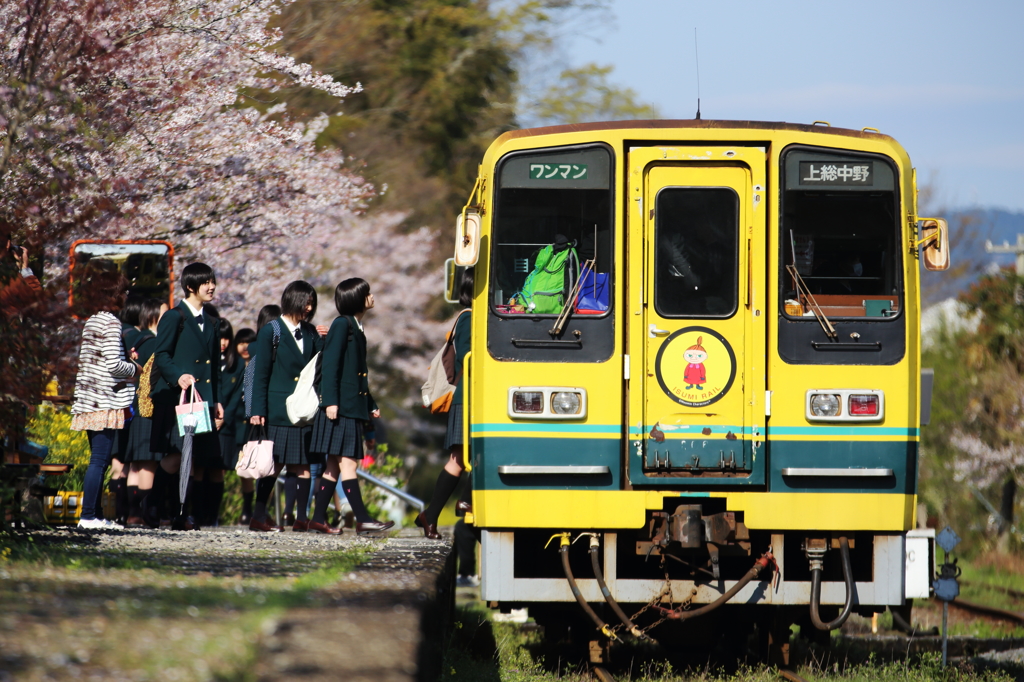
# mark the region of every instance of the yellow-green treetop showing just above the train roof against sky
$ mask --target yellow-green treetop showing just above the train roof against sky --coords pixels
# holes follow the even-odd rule
[[[535,116],[552,124],[659,118],[657,108],[638,101],[632,88],[609,82],[613,69],[593,62],[566,69],[537,102]]]

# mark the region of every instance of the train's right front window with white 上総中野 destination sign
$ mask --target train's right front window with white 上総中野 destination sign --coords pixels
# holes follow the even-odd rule
[[[892,318],[902,310],[899,197],[892,164],[808,147],[782,158],[782,312]],[[816,324],[816,323],[815,323]]]

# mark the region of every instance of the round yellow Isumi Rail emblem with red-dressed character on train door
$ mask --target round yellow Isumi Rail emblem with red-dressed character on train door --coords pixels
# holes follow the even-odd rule
[[[665,340],[654,364],[666,395],[687,408],[720,400],[736,378],[736,354],[720,334],[686,327]]]

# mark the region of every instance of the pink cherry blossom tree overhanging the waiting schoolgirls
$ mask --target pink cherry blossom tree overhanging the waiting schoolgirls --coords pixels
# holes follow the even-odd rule
[[[0,0],[0,225],[45,252],[49,280],[45,305],[0,322],[5,352],[39,349],[3,364],[3,404],[33,403],[50,371],[67,382],[73,370],[54,359],[76,336],[61,307],[74,239],[168,239],[179,264],[213,265],[224,309],[250,318],[303,276],[376,279],[378,295],[394,288],[381,296],[388,312],[422,309],[436,291],[419,265],[429,232],[356,217],[374,189],[342,151],[317,146],[327,117],[266,105],[286,85],[336,98],[359,87],[275,51],[286,4]],[[399,317],[378,350],[413,372],[401,350],[432,328]]]

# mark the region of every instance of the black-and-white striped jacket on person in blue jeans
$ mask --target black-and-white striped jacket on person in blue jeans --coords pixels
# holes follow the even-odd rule
[[[121,345],[121,322],[111,312],[97,312],[89,317],[82,330],[72,414],[131,407],[135,384],[125,379],[133,376],[135,365],[125,359]]]

